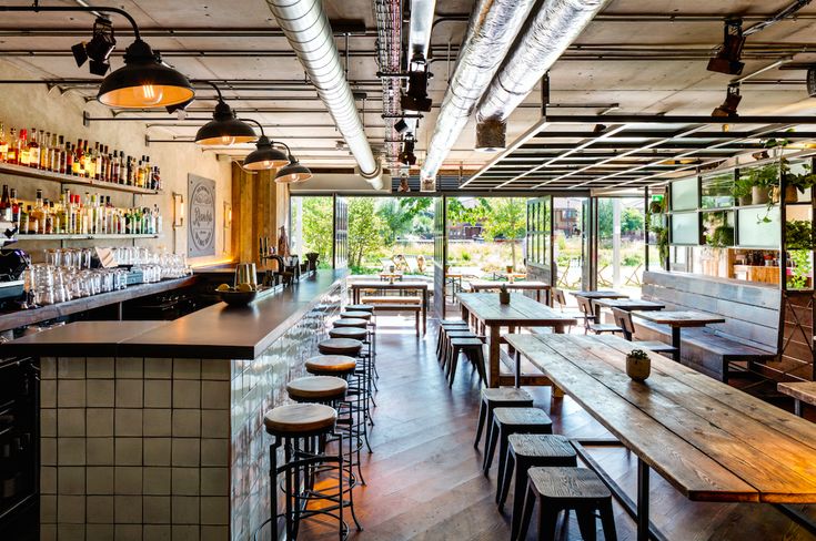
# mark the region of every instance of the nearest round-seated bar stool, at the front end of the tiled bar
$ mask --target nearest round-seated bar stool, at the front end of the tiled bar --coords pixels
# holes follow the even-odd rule
[[[325,439],[335,435],[334,427],[338,412],[334,408],[322,404],[290,404],[272,409],[263,418],[266,432],[272,436],[270,445],[270,493],[272,514],[266,522],[272,529],[271,539],[279,539],[278,520],[283,516],[286,539],[298,538],[300,521],[322,514],[333,517],[339,522],[340,538],[349,534],[349,525],[343,520],[343,446],[338,447],[336,455],[328,455],[314,449],[315,438]],[[341,435],[338,435],[342,438]],[[278,463],[278,450],[283,448],[283,463]],[[316,467],[328,467],[338,473],[336,493],[315,491],[309,487],[310,476]],[[285,474],[284,497],[285,511],[278,513],[278,478]],[[306,483],[302,491],[302,482]],[[310,501],[324,500],[330,504],[322,509],[308,509]],[[332,504],[333,503],[333,504]],[[264,522],[261,528],[266,524]],[[255,532],[258,538],[258,532]]]

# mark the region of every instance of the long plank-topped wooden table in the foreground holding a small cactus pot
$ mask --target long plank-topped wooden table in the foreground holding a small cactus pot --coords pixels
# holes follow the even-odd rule
[[[814,531],[785,504],[816,502],[816,425],[654,353],[652,376],[632,381],[625,374],[632,345],[619,337],[506,339],[637,456],[635,507],[576,446],[636,518],[638,540],[665,539],[648,521],[651,469],[689,500],[773,503]]]

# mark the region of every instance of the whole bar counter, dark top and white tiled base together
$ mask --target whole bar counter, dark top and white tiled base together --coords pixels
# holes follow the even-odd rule
[[[263,415],[305,375],[345,274],[246,308],[80,321],[0,346],[40,360],[41,539],[252,539],[270,516]]]

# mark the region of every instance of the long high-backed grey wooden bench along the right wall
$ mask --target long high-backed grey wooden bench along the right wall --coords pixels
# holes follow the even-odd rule
[[[683,329],[682,361],[727,381],[734,363],[767,363],[778,357],[779,290],[756,284],[683,273],[643,274],[643,298],[667,310],[698,310],[719,315],[724,324]],[[668,341],[671,329],[635,318],[638,340]]]

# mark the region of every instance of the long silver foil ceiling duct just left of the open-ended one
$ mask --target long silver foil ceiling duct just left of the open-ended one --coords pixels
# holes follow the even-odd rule
[[[422,165],[423,187],[433,185],[432,180],[462,133],[533,3],[533,0],[476,0]]]

